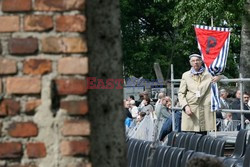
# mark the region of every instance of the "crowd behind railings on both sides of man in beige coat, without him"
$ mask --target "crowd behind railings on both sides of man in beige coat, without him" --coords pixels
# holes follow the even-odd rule
[[[221,109],[240,110],[240,90],[237,90],[235,95],[229,93],[226,89],[219,90]],[[155,138],[164,141],[167,134],[172,131],[172,114],[175,114],[175,130],[181,131],[182,110],[173,110],[172,99],[167,96],[164,91],[158,93],[158,99],[151,99],[149,93],[144,91],[139,95],[140,99],[135,100],[131,95],[124,100],[124,111],[126,113],[126,132],[127,135],[142,135],[143,133],[151,132],[151,140]],[[243,93],[244,110],[250,110],[249,93]],[[178,99],[174,102],[175,107],[180,107]],[[144,126],[139,126],[144,118],[147,117]],[[231,112],[216,112],[216,121],[218,131],[235,131],[239,130],[241,125],[241,114]],[[244,114],[244,127],[250,129],[250,111],[249,114]],[[149,127],[151,125],[151,127]],[[145,127],[146,126],[146,127]],[[147,130],[150,129],[150,130]],[[133,133],[131,133],[131,131]],[[138,132],[140,131],[140,132]],[[156,135],[156,136],[155,136]],[[129,136],[131,137],[131,136]],[[143,134],[141,137],[145,137]],[[154,138],[155,137],[155,138]]]

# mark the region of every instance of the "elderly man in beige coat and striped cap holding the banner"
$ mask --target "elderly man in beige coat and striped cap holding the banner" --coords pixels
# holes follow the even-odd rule
[[[182,131],[207,134],[215,130],[216,116],[211,112],[211,83],[221,77],[212,76],[202,66],[202,58],[198,54],[189,56],[191,69],[182,75],[178,92],[182,113]]]

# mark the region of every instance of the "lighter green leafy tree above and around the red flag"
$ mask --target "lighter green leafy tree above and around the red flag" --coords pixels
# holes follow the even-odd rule
[[[192,0],[188,2],[181,0],[178,1],[174,12],[173,26],[179,30],[179,39],[186,39],[185,44],[190,45],[190,48],[195,41],[193,30],[195,24],[211,26],[213,21],[213,26],[232,29],[225,75],[233,78],[238,77],[243,5],[244,0]]]

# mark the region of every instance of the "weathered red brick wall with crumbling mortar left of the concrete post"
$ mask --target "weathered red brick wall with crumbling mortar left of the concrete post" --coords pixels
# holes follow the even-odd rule
[[[85,1],[0,9],[0,166],[89,167]]]

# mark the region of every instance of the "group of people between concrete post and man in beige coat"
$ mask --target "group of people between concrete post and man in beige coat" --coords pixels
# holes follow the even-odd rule
[[[172,99],[164,91],[158,94],[156,100],[151,99],[147,91],[140,93],[139,97],[137,101],[134,96],[124,100],[127,135],[139,139],[150,135],[149,140],[163,141],[172,131]],[[175,111],[174,114],[176,129],[180,131],[181,112]]]

